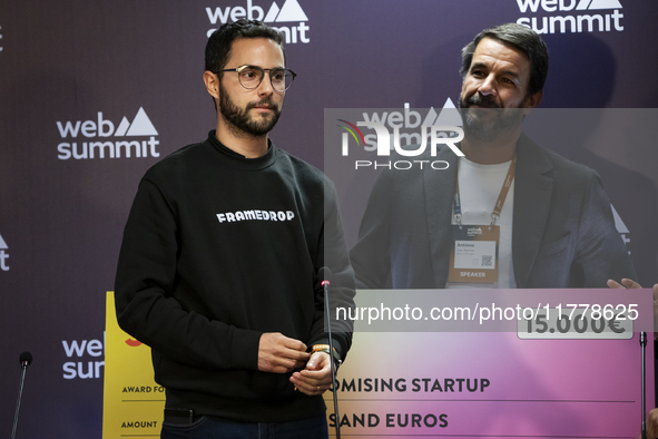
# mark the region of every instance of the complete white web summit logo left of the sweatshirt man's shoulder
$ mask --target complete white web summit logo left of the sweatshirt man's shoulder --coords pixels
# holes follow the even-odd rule
[[[77,120],[67,123],[57,123],[57,129],[62,139],[69,137],[77,139],[78,135],[87,139],[100,138],[96,142],[62,142],[57,145],[59,152],[57,158],[60,160],[68,160],[73,158],[94,159],[94,158],[132,158],[132,157],[159,157],[160,153],[156,150],[156,146],[160,144],[156,140],[158,131],[153,126],[150,119],[139,108],[137,116],[132,124],[124,116],[115,130],[115,124],[110,120],[104,119],[102,111],[98,111],[96,120]],[[140,137],[150,136],[148,140],[115,140],[106,139],[108,137]]]

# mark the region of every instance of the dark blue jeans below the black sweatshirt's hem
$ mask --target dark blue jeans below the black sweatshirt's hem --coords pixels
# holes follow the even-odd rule
[[[202,417],[189,426],[163,423],[161,439],[328,439],[326,417],[291,422],[230,422]]]

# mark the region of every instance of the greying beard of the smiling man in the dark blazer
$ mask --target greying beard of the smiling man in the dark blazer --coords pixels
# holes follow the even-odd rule
[[[471,108],[478,105],[484,108]],[[464,134],[480,142],[494,142],[501,135],[517,129],[523,121],[522,106],[503,108],[491,96],[474,92],[459,98]]]

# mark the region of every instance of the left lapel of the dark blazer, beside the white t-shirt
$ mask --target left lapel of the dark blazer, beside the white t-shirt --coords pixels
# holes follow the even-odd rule
[[[456,155],[449,148],[441,148],[432,160],[445,160],[448,169],[425,168],[423,172],[423,189],[425,199],[425,218],[430,235],[430,248],[432,252],[432,270],[434,272],[435,287],[445,287],[448,281],[448,264],[450,258],[450,242],[452,231],[450,222],[452,217],[452,198],[456,182]]]

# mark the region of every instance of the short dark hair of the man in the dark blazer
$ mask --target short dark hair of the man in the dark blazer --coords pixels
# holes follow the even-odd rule
[[[541,37],[527,26],[507,23],[484,29],[462,49],[462,78],[469,72],[473,53],[483,38],[491,38],[520,50],[530,60],[530,84],[528,96],[543,89],[548,76],[548,48]]]

